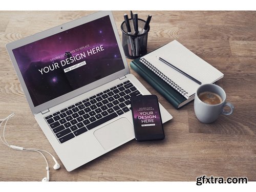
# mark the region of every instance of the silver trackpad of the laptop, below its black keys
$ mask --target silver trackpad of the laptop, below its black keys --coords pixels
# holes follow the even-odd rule
[[[94,132],[94,136],[100,142],[104,150],[134,138],[133,125],[126,118],[118,119]]]

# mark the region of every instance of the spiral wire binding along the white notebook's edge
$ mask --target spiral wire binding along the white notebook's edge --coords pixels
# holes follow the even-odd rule
[[[144,64],[148,69],[150,69],[152,72],[154,72],[157,76],[159,76],[161,79],[163,79],[165,82],[167,82],[172,88],[174,88],[176,91],[178,91],[180,94],[185,96],[187,92],[182,89],[178,84],[176,84],[172,79],[169,79],[166,75],[164,75],[161,71],[159,71],[156,67],[154,67],[150,62],[148,62],[144,58],[140,58],[140,62]]]

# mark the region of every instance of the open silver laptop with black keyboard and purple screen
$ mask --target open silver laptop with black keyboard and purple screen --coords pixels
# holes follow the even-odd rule
[[[71,171],[135,138],[130,74],[111,11],[11,42],[9,56],[41,130]],[[172,119],[160,104],[162,122]]]

